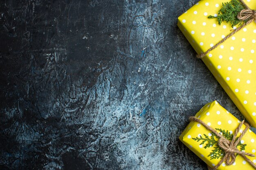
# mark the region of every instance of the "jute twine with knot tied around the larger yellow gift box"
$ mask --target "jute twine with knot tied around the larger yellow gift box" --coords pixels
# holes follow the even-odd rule
[[[237,18],[241,21],[247,21],[245,22],[242,26],[238,27],[237,29],[235,29],[233,32],[231,32],[229,35],[227,35],[225,38],[223,38],[220,42],[218,42],[218,44],[212,46],[209,50],[205,51],[202,54],[198,54],[196,55],[196,57],[202,59],[205,55],[207,55],[210,51],[216,49],[220,44],[222,44],[223,42],[225,42],[228,38],[230,38],[232,35],[234,35],[236,32],[238,32],[239,30],[243,29],[245,26],[247,26],[248,24],[254,22],[256,20],[256,11],[253,9],[250,9],[247,4],[245,4],[245,2],[243,0],[239,0],[243,6],[245,7],[245,9],[243,9],[242,11],[240,11],[237,15]]]

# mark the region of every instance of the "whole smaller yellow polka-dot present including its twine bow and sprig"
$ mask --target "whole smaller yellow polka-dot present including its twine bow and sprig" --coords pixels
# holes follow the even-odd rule
[[[210,168],[218,168],[218,170],[256,169],[254,155],[256,135],[249,130],[248,124],[241,123],[216,101],[206,104],[195,117],[190,119],[191,122],[180,135],[180,140]],[[222,138],[224,140],[220,141]],[[237,144],[234,144],[232,148],[233,139]],[[230,162],[231,155],[233,155],[233,162]]]

